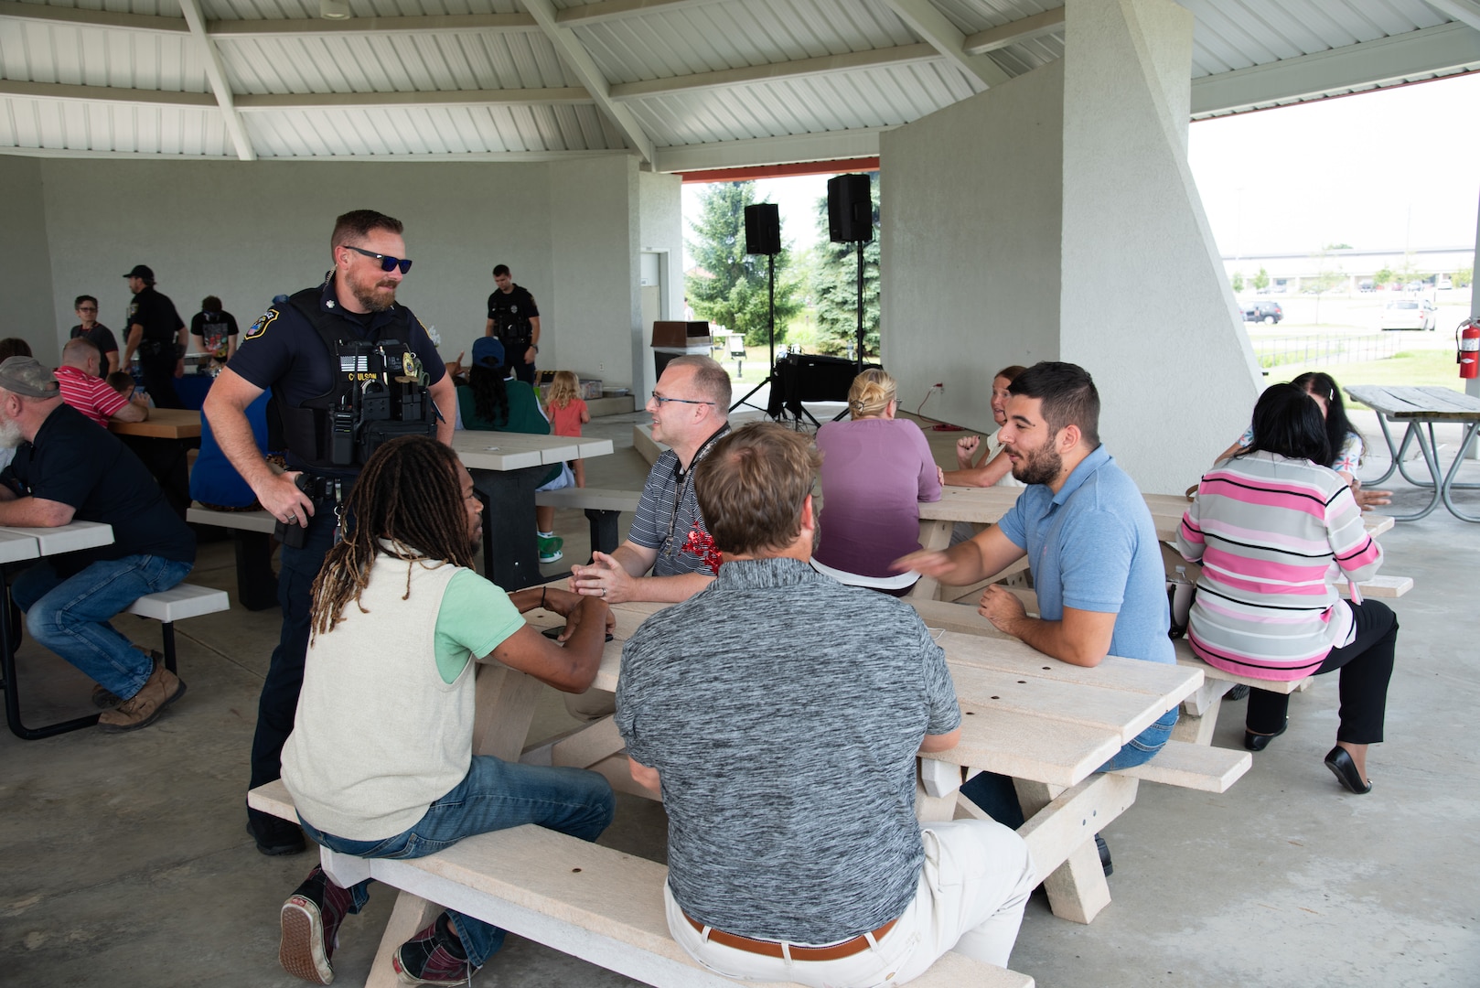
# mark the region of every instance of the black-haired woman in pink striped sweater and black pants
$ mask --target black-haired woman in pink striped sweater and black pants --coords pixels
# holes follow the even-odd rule
[[[1382,741],[1397,618],[1356,591],[1382,550],[1328,462],[1313,395],[1273,385],[1254,407],[1249,446],[1199,481],[1177,548],[1203,563],[1187,640],[1209,665],[1279,681],[1341,670],[1341,726],[1326,767],[1363,794],[1372,790],[1368,745]],[[1336,593],[1341,578],[1350,603]],[[1288,695],[1252,690],[1243,745],[1267,748],[1289,726],[1288,708]]]

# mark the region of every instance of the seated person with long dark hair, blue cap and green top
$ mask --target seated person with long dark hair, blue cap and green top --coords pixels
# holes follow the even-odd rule
[[[494,433],[528,433],[549,435],[551,424],[540,410],[534,388],[508,378],[503,367],[503,344],[493,336],[482,336],[472,344],[472,364],[468,369],[468,384],[457,385],[457,419],[465,430]],[[537,490],[568,487],[570,468],[554,467],[540,481]],[[562,483],[564,481],[564,483]],[[555,563],[564,555],[564,539],[555,535],[555,508],[534,508],[534,532],[539,541],[540,563]]]

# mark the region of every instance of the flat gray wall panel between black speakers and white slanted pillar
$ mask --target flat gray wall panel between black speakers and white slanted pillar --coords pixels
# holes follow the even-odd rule
[[[1058,358],[1063,64],[879,136],[884,366],[913,410],[993,430],[992,375]]]

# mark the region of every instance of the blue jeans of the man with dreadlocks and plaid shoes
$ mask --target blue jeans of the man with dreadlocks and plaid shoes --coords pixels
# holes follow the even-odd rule
[[[582,840],[596,840],[611,822],[616,798],[611,785],[586,769],[503,761],[493,755],[474,755],[468,776],[451,792],[426,809],[411,830],[385,840],[348,840],[326,834],[299,818],[303,832],[315,841],[357,858],[425,858],[451,847],[463,837],[539,824]],[[349,889],[351,912],[370,901],[370,881]],[[491,923],[454,912],[453,920],[468,960],[481,967],[503,947],[503,930]]]

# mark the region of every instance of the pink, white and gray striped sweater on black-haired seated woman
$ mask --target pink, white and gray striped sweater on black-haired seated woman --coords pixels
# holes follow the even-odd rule
[[[1187,640],[1209,665],[1261,680],[1310,675],[1351,643],[1336,581],[1365,581],[1382,548],[1347,483],[1308,459],[1257,452],[1197,484],[1177,548],[1202,560]]]

